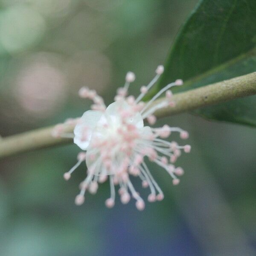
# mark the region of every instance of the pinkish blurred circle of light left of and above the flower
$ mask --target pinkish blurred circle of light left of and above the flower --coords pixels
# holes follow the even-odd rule
[[[46,118],[67,97],[66,76],[52,55],[41,52],[33,55],[20,70],[14,93],[23,111],[38,119]]]

